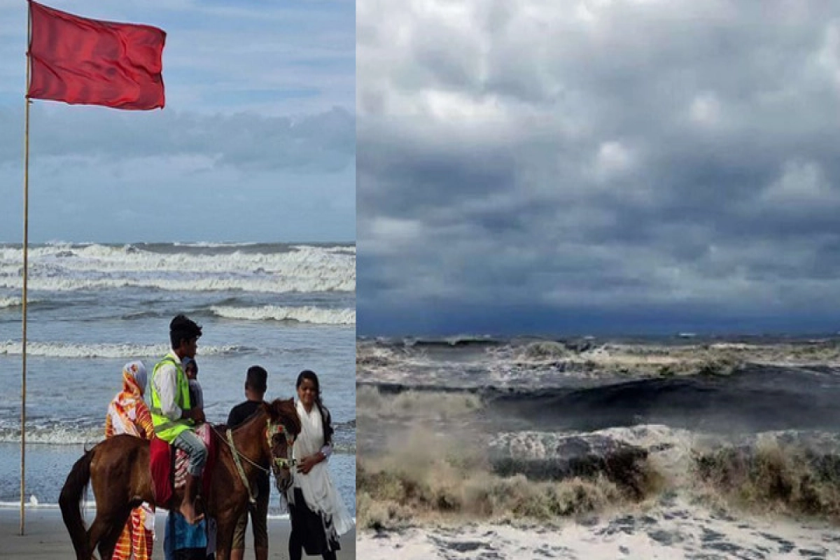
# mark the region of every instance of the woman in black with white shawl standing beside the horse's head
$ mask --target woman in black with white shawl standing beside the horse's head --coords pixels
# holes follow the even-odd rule
[[[339,536],[353,528],[344,501],[329,475],[327,458],[332,453],[333,427],[329,411],[321,400],[318,375],[302,371],[297,377],[297,416],[301,433],[292,447],[297,468],[287,492],[291,513],[289,557],[300,560],[320,554],[333,560],[339,550]]]

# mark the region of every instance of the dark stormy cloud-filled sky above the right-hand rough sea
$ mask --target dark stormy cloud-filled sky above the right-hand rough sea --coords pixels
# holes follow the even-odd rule
[[[840,330],[836,3],[357,11],[360,334]]]

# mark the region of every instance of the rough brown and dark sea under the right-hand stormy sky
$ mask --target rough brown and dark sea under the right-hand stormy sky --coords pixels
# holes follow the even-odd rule
[[[362,557],[840,557],[840,339],[356,350]]]

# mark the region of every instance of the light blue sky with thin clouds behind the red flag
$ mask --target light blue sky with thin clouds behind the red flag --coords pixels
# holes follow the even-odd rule
[[[29,234],[62,241],[352,241],[350,0],[54,0],[167,33],[166,107],[33,103]],[[23,238],[26,3],[0,0],[0,242]]]

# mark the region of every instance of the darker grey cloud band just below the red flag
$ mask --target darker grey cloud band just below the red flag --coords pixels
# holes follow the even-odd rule
[[[39,158],[200,155],[233,167],[335,172],[353,165],[355,155],[355,118],[340,108],[281,118],[35,105],[31,120]],[[0,127],[22,131],[22,118],[0,110]],[[19,138],[4,134],[0,162],[18,161],[21,149]]]

